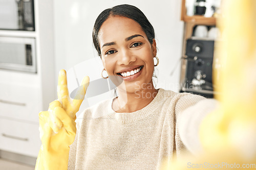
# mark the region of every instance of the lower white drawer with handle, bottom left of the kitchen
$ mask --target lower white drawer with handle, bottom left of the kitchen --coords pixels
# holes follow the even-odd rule
[[[0,150],[37,157],[39,125],[0,118]]]

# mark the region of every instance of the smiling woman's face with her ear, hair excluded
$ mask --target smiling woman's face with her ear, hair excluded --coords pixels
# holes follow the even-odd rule
[[[153,88],[156,42],[148,41],[139,23],[127,17],[111,16],[103,22],[98,35],[106,72],[112,78],[123,79],[118,88],[131,93],[148,86]]]

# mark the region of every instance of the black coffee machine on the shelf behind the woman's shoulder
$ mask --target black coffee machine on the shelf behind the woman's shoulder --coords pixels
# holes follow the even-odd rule
[[[186,41],[185,78],[180,92],[190,92],[213,98],[212,62],[214,40],[190,38]]]

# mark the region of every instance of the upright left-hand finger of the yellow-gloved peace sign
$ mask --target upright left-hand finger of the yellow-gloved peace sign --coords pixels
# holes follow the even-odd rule
[[[59,71],[57,92],[58,99],[62,101],[62,104],[67,103],[69,98],[69,90],[67,85],[67,74],[63,69]]]

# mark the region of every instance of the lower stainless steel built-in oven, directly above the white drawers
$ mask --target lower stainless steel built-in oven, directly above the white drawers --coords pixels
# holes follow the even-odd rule
[[[0,69],[36,72],[35,38],[0,37]]]

